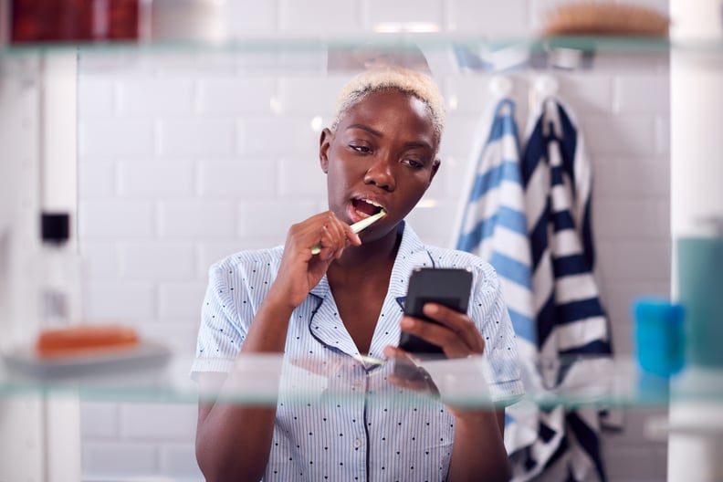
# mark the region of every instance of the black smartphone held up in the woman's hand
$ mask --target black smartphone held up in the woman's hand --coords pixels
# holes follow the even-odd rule
[[[409,278],[404,314],[430,323],[437,323],[424,316],[424,303],[435,302],[447,308],[466,313],[472,291],[472,272],[463,268],[418,267]],[[421,358],[444,358],[442,349],[427,341],[402,331],[399,348]]]

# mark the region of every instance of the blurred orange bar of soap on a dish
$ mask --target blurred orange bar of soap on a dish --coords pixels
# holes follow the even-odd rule
[[[43,330],[37,337],[36,353],[41,358],[86,352],[116,351],[138,345],[134,328],[121,325],[77,325]]]

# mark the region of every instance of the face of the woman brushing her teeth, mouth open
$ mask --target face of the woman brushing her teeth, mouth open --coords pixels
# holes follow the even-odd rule
[[[389,233],[424,195],[435,176],[437,139],[421,100],[398,90],[367,96],[320,139],[329,208],[353,224],[383,208],[387,215],[362,237]]]

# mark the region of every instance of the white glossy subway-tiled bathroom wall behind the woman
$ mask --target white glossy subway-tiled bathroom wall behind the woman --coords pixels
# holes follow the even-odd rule
[[[666,0],[645,3],[667,8]],[[361,33],[413,20],[449,33],[527,35],[553,4],[236,1],[228,21],[236,32],[259,35]],[[318,57],[169,50],[81,58],[79,239],[89,259],[91,319],[135,324],[191,354],[207,267],[236,250],[280,244],[288,225],[325,208],[311,121],[329,120],[346,76],[326,75]],[[602,301],[616,352],[630,355],[631,299],[669,293],[668,66],[663,56],[598,56],[595,66],[552,73],[590,148]],[[437,204],[411,221],[427,242],[446,246],[477,120],[490,100],[489,76],[435,74],[457,107],[428,194]],[[510,74],[523,121],[536,75]],[[611,480],[665,478],[665,443],[644,437],[644,421],[655,413],[629,410],[623,433],[605,435]],[[82,414],[87,480],[200,479],[194,406],[85,403]]]

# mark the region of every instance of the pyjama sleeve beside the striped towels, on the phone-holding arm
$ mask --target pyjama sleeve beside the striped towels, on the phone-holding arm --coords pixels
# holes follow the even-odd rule
[[[507,405],[525,392],[520,380],[517,338],[497,272],[483,262],[475,267],[475,274],[469,314],[485,339],[490,396]]]

